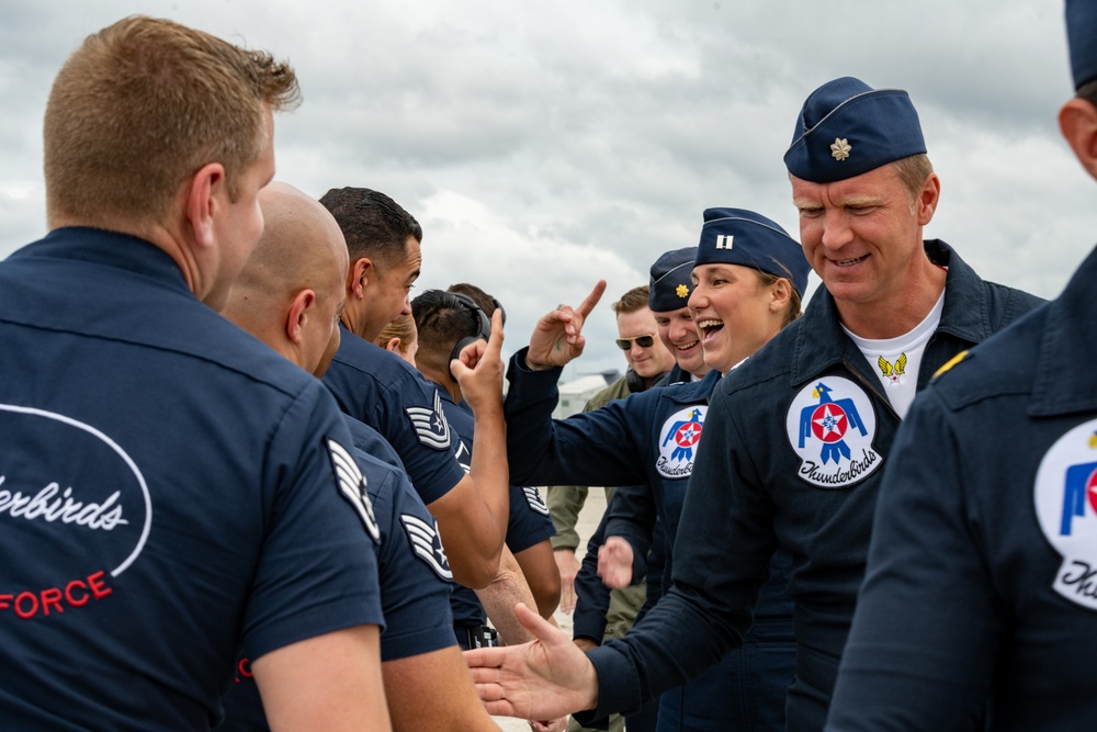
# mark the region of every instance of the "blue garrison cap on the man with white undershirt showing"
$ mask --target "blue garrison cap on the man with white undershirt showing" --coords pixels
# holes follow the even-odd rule
[[[833,183],[925,151],[918,113],[905,91],[842,77],[804,102],[784,165],[802,180]]]

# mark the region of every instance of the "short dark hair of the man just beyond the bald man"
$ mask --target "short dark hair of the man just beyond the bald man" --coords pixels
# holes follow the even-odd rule
[[[380,191],[333,188],[320,203],[342,229],[351,262],[363,257],[385,264],[403,262],[408,237],[422,241],[422,227],[415,216]]]

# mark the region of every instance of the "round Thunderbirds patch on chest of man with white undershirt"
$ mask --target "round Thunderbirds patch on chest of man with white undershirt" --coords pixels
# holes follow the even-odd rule
[[[853,485],[883,464],[872,447],[872,402],[848,379],[828,376],[801,390],[789,406],[785,427],[800,455],[798,475],[821,488]]]

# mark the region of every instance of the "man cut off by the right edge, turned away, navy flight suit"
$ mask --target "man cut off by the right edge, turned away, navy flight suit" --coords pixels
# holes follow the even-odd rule
[[[1097,4],[1066,3],[1097,177]],[[1097,250],[1048,306],[972,349],[884,472],[830,730],[1082,730],[1097,718]]]

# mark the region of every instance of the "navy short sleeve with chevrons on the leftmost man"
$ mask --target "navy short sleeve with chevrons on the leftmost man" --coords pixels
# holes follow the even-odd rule
[[[263,472],[268,526],[244,617],[252,660],[343,628],[383,624],[372,508],[365,486],[341,466],[350,446],[318,381],[273,436]]]

